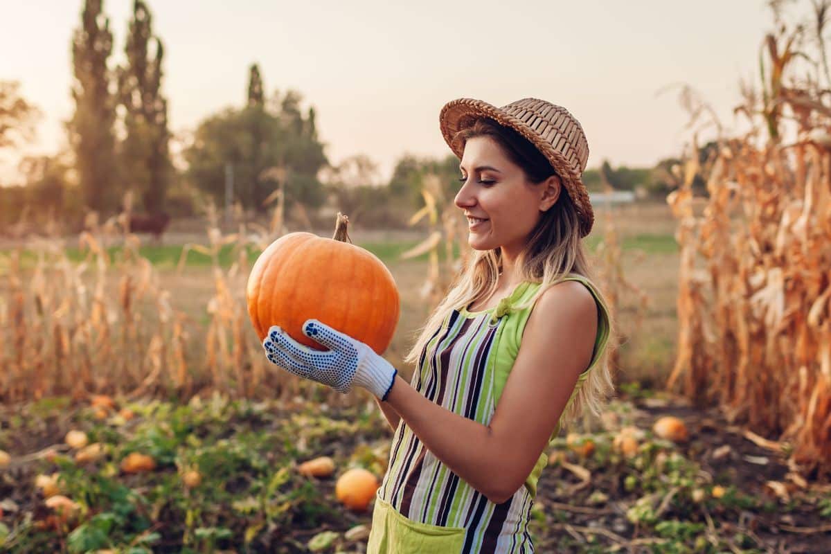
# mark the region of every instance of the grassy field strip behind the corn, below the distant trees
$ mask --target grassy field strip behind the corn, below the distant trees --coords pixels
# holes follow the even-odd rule
[[[622,247],[622,265],[627,279],[647,294],[645,310],[640,299],[628,295],[621,299],[618,326],[625,336],[622,345],[622,366],[619,379],[622,382],[637,381],[647,387],[660,385],[666,379],[667,368],[673,361],[676,341],[675,302],[677,294],[678,247],[673,236],[675,220],[664,203],[633,204],[610,208],[608,212],[614,228],[619,233]],[[598,209],[593,233],[586,239],[591,252],[597,251],[602,241],[606,213]],[[159,286],[175,292],[172,306],[184,311],[194,321],[205,323],[207,299],[214,294],[214,274],[211,257],[202,252],[187,252],[184,264],[182,250],[186,244],[205,243],[204,225],[200,221],[175,222],[163,243],[143,238],[140,254],[153,263],[159,273]],[[318,235],[327,236],[331,231],[321,229]],[[427,273],[427,255],[401,260],[401,253],[425,238],[424,231],[378,231],[352,228],[352,240],[376,254],[390,268],[401,291],[401,320],[396,335],[387,352],[389,360],[402,367],[401,356],[413,340],[413,333],[425,321],[429,306],[419,296],[421,284]],[[73,262],[81,262],[87,250],[78,246],[77,238],[65,238],[66,256]],[[16,243],[0,241],[0,271],[8,254]],[[118,257],[122,248],[114,244],[107,248],[111,257]],[[258,251],[248,250],[248,263],[253,263]],[[219,264],[227,269],[235,261],[232,247],[219,250]],[[22,266],[32,267],[36,254],[31,250],[22,253]],[[239,272],[229,278],[229,288],[244,294],[247,272]],[[0,284],[0,287],[4,287]],[[113,287],[116,283],[113,283]],[[249,336],[253,337],[253,331]]]

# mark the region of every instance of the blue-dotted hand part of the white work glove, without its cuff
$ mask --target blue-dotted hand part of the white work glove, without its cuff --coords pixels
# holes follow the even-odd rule
[[[315,320],[306,321],[303,334],[329,350],[313,350],[280,327],[272,326],[263,341],[268,361],[303,379],[315,380],[341,393],[349,392],[358,367],[358,352],[352,340]]]

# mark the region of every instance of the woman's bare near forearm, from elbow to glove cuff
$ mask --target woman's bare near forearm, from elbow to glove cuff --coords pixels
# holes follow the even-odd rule
[[[489,500],[503,502],[513,493],[502,490],[489,427],[426,399],[397,375],[386,402],[379,404],[394,409],[436,458]]]

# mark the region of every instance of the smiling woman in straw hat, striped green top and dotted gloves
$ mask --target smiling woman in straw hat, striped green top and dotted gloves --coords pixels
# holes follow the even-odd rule
[[[327,352],[278,327],[263,346],[297,375],[370,390],[396,429],[367,552],[534,552],[545,449],[612,390],[611,321],[581,243],[588,145],[567,110],[536,99],[451,101],[440,127],[461,159],[455,204],[475,256],[407,356],[411,384],[319,321],[303,332]]]

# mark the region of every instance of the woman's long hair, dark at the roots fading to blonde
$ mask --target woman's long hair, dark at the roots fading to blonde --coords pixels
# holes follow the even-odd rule
[[[556,172],[542,153],[516,131],[499,125],[494,120],[480,118],[473,125],[466,127],[454,137],[455,141],[466,144],[477,136],[489,136],[494,139],[504,153],[524,170],[529,181],[540,184]],[[578,213],[572,200],[561,189],[557,202],[544,212],[534,229],[529,233],[525,248],[517,263],[522,281],[538,282],[540,287],[527,305],[534,302],[551,287],[563,281],[569,274],[578,274],[593,281],[593,269],[588,262],[583,242],[580,239]],[[473,256],[455,277],[450,292],[427,318],[425,326],[419,332],[416,344],[406,355],[405,360],[418,363],[430,337],[443,324],[451,311],[468,306],[479,298],[491,297],[496,291],[499,273],[502,271],[502,256],[499,248],[474,251]],[[595,288],[602,296],[599,287]],[[599,321],[598,321],[599,325]],[[589,371],[583,386],[571,403],[566,406],[561,417],[563,426],[567,426],[582,414],[588,412],[599,415],[609,395],[614,390],[612,373],[609,367],[608,351],[613,347],[612,321],[609,321],[610,333],[607,349],[602,358],[597,360],[593,370]]]

